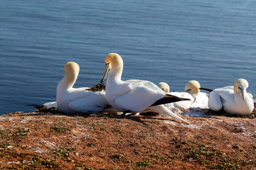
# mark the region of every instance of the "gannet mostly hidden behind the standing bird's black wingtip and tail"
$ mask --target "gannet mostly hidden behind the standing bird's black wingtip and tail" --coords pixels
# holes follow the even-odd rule
[[[160,82],[159,87],[164,92],[166,92],[166,94],[171,94],[171,95],[174,95],[174,96],[178,96],[180,98],[189,98],[190,99],[190,101],[178,101],[178,102],[174,102],[174,103],[164,104],[164,106],[166,106],[166,108],[169,108],[172,112],[182,113],[182,112],[186,112],[188,108],[191,108],[191,104],[195,100],[193,98],[193,96],[191,96],[191,94],[188,94],[186,92],[171,92],[170,93],[169,85],[164,83],[164,82]]]

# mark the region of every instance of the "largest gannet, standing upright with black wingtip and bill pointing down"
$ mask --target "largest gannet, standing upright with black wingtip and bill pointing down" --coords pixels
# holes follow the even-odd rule
[[[110,70],[111,69],[111,70]],[[123,60],[117,53],[110,53],[105,59],[105,72],[102,81],[107,77],[106,98],[108,103],[118,111],[164,113],[188,123],[178,115],[171,113],[164,103],[189,100],[178,98],[162,91],[150,81],[131,79],[122,81]]]

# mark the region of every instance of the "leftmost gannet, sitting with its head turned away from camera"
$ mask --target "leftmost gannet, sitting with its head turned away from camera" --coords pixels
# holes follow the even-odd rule
[[[65,77],[57,86],[57,106],[63,113],[98,113],[105,108],[109,108],[105,92],[88,91],[88,87],[73,88],[80,67],[75,62],[65,64]]]

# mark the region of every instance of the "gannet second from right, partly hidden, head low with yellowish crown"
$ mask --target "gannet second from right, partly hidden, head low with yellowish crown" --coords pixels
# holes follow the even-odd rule
[[[184,91],[195,98],[194,102],[191,104],[191,108],[208,108],[209,94],[201,92],[200,89],[206,88],[201,88],[199,82],[196,80],[191,80],[186,83]],[[206,90],[209,91],[210,89]]]

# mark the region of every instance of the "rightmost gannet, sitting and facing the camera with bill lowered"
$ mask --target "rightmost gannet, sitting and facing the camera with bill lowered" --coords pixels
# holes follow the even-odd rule
[[[213,90],[210,92],[209,108],[213,111],[220,111],[223,108],[226,113],[235,115],[250,115],[254,104],[246,92],[248,86],[245,79],[238,79],[234,86]]]

